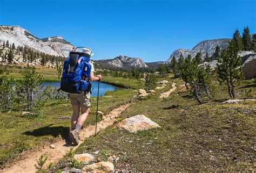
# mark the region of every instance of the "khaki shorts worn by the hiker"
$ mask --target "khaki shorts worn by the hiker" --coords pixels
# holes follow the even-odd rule
[[[83,92],[80,95],[73,93],[69,94],[71,105],[79,105],[81,107],[90,107],[91,106],[91,95],[90,92]]]

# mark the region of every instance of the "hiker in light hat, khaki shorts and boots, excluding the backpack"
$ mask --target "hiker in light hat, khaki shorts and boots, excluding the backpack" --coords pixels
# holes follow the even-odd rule
[[[90,48],[83,48],[84,53],[87,53],[89,55],[94,55],[91,53]],[[91,65],[91,72],[90,72],[90,77],[86,78],[85,80],[87,82],[91,81],[99,81],[102,79],[102,75],[97,75],[97,77],[94,76],[95,69],[93,67],[93,63],[89,61]],[[71,131],[69,133],[71,141],[75,144],[78,145],[79,143],[79,132],[81,127],[83,126],[89,111],[90,111],[90,106],[91,106],[91,99],[90,99],[90,90],[89,91],[82,91],[82,93],[70,93],[70,102],[72,105],[73,109],[73,115],[71,118]],[[79,116],[79,112],[81,111],[81,114]]]

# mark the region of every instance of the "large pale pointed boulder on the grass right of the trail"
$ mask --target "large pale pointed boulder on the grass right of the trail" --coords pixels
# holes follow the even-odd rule
[[[152,129],[160,127],[156,122],[147,118],[144,115],[137,115],[130,118],[126,118],[119,122],[117,128],[123,128],[131,133],[137,133],[138,131],[143,131],[146,129]]]

